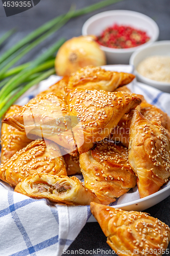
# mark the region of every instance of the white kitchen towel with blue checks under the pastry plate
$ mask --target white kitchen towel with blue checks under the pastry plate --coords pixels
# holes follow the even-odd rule
[[[131,66],[108,66],[108,69],[132,72]],[[27,92],[18,104],[26,104],[40,91],[55,83],[59,77],[52,76]],[[144,95],[170,116],[170,94],[134,82],[131,90]],[[114,205],[139,199],[137,188],[120,197]],[[78,236],[89,219],[89,206],[63,206],[48,200],[31,199],[0,182],[0,255],[60,256],[63,249]]]

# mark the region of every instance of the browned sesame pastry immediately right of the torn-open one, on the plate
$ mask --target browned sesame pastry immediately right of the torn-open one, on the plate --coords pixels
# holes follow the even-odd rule
[[[98,143],[94,150],[80,155],[85,186],[102,204],[110,204],[136,185],[128,162],[128,149],[110,142]]]

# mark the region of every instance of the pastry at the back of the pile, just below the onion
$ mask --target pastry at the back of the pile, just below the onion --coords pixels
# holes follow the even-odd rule
[[[71,74],[68,87],[113,92],[117,87],[130,83],[134,78],[133,74],[87,66]]]

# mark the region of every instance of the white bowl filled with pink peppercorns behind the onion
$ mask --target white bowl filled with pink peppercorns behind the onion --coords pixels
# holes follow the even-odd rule
[[[128,64],[136,50],[159,37],[154,20],[139,12],[114,10],[96,14],[82,28],[83,35],[95,35],[108,64]]]

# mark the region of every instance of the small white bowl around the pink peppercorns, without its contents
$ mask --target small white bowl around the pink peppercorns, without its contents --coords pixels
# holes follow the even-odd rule
[[[150,45],[151,42],[158,39],[159,28],[152,18],[139,12],[126,10],[107,11],[92,16],[83,25],[82,35],[98,36],[103,30],[115,23],[147,32],[151,39],[143,45]],[[114,49],[101,46],[101,49],[106,53],[108,64],[128,64],[131,54],[143,45],[128,49]]]

